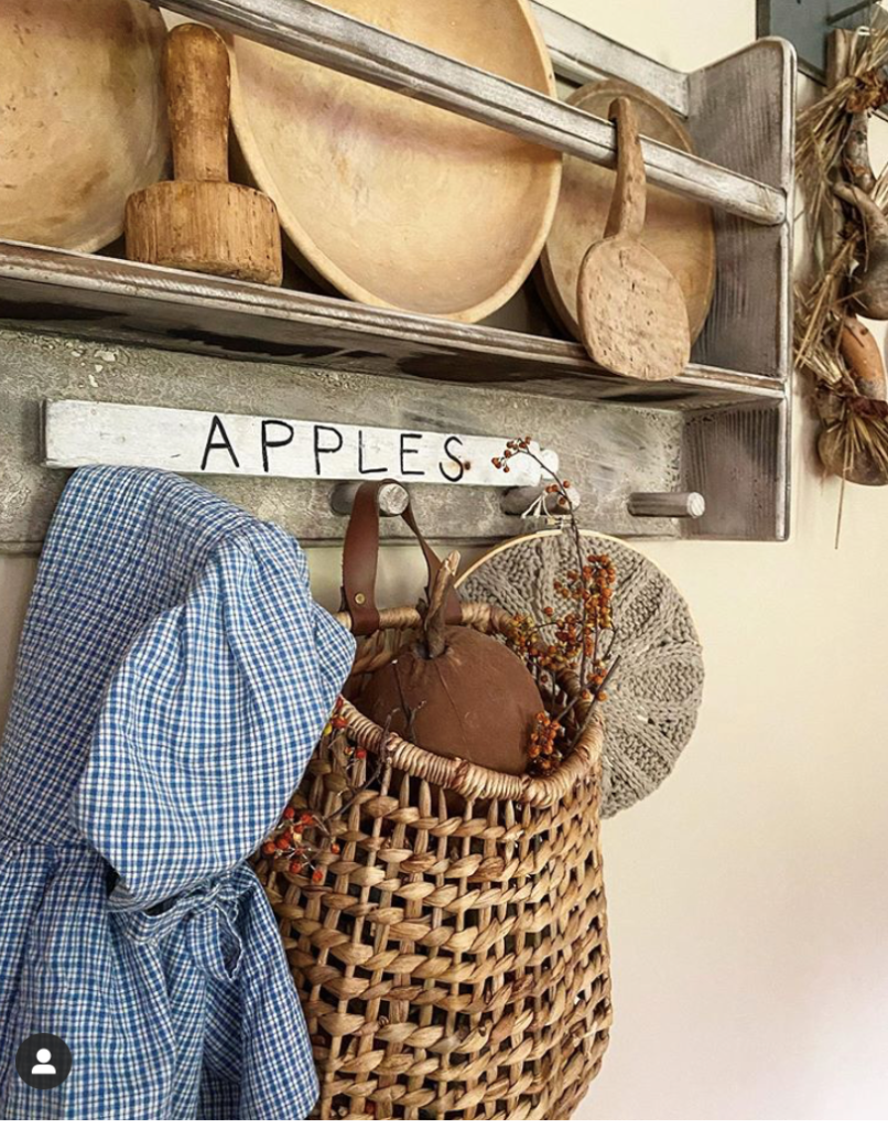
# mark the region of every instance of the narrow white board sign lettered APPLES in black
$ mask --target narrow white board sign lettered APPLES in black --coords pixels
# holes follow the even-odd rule
[[[510,473],[492,460],[505,439],[437,431],[185,411],[83,400],[44,404],[44,465],[155,466],[182,474],[397,479],[401,482],[527,487],[542,471],[527,455]],[[539,447],[531,445],[539,454]],[[546,464],[552,470],[551,453]]]

